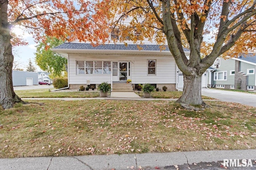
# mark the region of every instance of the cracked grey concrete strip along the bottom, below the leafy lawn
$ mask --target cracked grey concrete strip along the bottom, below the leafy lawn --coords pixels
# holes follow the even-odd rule
[[[128,170],[140,169],[225,169],[224,159],[251,159],[256,169],[254,150],[209,150],[144,154],[110,154],[93,156],[59,156],[0,159],[1,170]],[[219,161],[217,164],[214,162]],[[201,163],[200,163],[201,162]],[[198,163],[200,163],[198,166]],[[215,164],[215,165],[214,165]],[[205,165],[205,166],[204,166]],[[207,168],[208,167],[208,168]],[[230,169],[230,168],[229,168]],[[231,168],[232,169],[232,168]],[[242,167],[242,169],[248,169]]]

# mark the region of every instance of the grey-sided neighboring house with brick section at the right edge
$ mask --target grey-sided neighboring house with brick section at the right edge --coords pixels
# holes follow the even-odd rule
[[[256,55],[217,58],[212,66],[212,86],[216,88],[256,90]],[[209,76],[210,77],[210,76]],[[210,84],[208,84],[210,86]]]

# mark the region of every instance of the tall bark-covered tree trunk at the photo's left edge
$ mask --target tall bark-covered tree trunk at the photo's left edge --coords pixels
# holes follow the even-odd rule
[[[12,45],[10,43],[10,25],[7,19],[8,1],[0,5],[0,105],[4,109],[13,107],[14,103],[22,102],[15,94],[12,86]]]

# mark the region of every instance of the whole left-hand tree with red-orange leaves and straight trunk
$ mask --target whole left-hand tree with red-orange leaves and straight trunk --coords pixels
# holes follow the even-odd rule
[[[106,1],[104,1],[106,2]],[[100,0],[1,0],[0,1],[0,105],[10,108],[22,100],[12,85],[12,45],[26,45],[13,29],[20,26],[36,42],[45,35],[59,39],[106,42],[110,4]]]

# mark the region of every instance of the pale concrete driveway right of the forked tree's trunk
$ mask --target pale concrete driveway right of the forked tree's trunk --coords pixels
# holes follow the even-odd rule
[[[235,102],[256,107],[256,94],[202,88],[202,95],[216,98],[225,102]]]

